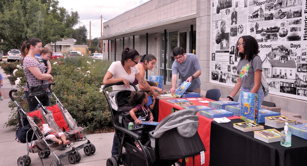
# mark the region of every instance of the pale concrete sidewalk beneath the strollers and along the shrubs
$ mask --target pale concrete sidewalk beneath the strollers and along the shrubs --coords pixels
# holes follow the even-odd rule
[[[5,59],[4,59],[5,60]],[[20,156],[27,154],[27,144],[18,143],[15,141],[15,127],[4,127],[5,122],[8,122],[11,109],[9,108],[9,91],[15,88],[14,85],[10,84],[7,75],[0,68],[0,73],[3,76],[3,86],[0,91],[4,97],[0,101],[0,165],[17,165],[17,159]],[[17,109],[16,109],[17,111]],[[106,161],[111,157],[111,149],[113,142],[114,133],[100,133],[100,134],[89,134],[86,137],[95,145],[96,152],[90,156],[86,156],[83,149],[78,152],[81,154],[80,162],[73,164],[76,166],[84,165],[106,165]],[[84,144],[85,141],[77,142],[74,146]],[[68,149],[71,150],[71,149]],[[68,150],[56,150],[57,156],[63,154]],[[38,153],[29,153],[31,158],[31,166],[49,166],[52,162],[56,162],[56,158],[53,154],[50,154],[48,158],[41,159]],[[68,161],[68,156],[61,159],[64,165],[72,165]]]

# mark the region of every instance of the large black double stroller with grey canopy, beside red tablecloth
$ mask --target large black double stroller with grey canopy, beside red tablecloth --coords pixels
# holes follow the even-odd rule
[[[131,106],[127,101],[131,91],[111,91],[107,94],[105,90],[107,87],[123,84],[120,82],[103,87],[119,145],[118,155],[108,158],[107,166],[175,166],[180,159],[182,164],[185,164],[186,157],[204,155],[205,147],[197,132],[199,122],[196,109],[170,114],[162,119],[153,131],[152,125],[128,130]],[[130,86],[138,91],[133,83],[130,83]],[[135,133],[140,129],[143,130],[142,136]],[[134,142],[137,142],[142,150],[139,150]]]

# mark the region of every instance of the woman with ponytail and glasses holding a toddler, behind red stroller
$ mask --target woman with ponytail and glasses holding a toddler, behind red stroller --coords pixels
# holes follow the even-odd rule
[[[24,41],[21,45],[20,52],[23,56],[23,70],[25,72],[25,77],[29,83],[30,87],[40,86],[43,84],[45,89],[48,89],[48,79],[53,81],[53,77],[50,74],[45,74],[45,65],[41,64],[35,54],[39,54],[42,49],[41,40],[37,38],[31,38],[28,41]],[[43,82],[42,82],[43,80]],[[37,103],[32,103],[29,98],[29,88],[25,86],[25,94],[28,101],[29,112],[33,111]],[[44,106],[50,106],[50,99],[47,98],[44,101],[41,101]]]

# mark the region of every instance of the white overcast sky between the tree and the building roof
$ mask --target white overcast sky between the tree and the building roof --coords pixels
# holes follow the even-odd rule
[[[79,26],[85,25],[88,31],[87,38],[90,36],[91,21],[91,38],[101,37],[101,18],[103,22],[110,20],[119,14],[126,12],[136,6],[141,5],[148,0],[58,0],[59,6],[64,7],[68,12],[77,11],[81,22]]]

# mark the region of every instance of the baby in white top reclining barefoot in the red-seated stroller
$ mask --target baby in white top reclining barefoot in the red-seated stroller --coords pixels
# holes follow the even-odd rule
[[[64,135],[64,133],[62,132],[57,132],[55,131],[55,129],[52,129],[51,127],[49,127],[48,124],[43,124],[41,121],[41,118],[38,118],[36,115],[33,116],[33,121],[34,123],[37,125],[37,127],[41,130],[41,133],[44,134],[44,136],[46,137],[46,139],[53,139],[54,141],[56,141],[59,145],[61,145],[62,143],[64,145],[67,145],[70,143],[70,141],[66,140],[66,136]],[[58,138],[61,138],[60,141]]]

